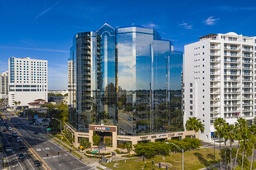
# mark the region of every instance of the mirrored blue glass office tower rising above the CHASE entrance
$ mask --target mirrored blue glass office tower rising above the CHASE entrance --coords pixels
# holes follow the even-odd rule
[[[70,124],[83,132],[89,125],[115,125],[118,135],[170,131],[173,54],[170,40],[142,26],[104,24],[76,34],[69,59]]]

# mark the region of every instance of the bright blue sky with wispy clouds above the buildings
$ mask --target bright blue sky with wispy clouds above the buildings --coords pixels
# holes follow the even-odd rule
[[[49,89],[67,88],[67,59],[76,32],[111,26],[155,28],[175,50],[210,33],[254,36],[256,1],[0,1],[0,72],[7,59],[47,59]]]

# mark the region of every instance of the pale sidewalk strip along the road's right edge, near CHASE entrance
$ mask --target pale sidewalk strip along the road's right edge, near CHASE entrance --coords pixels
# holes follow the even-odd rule
[[[51,134],[49,134],[49,135],[51,135]],[[57,139],[55,136],[51,135],[51,137],[54,140],[57,140],[57,141],[61,142],[60,139]],[[60,143],[58,143],[58,144],[60,144]],[[64,142],[62,142],[60,145],[65,145],[65,147],[63,147],[63,148],[71,149],[73,152],[79,154],[82,157],[82,159],[80,159],[80,160],[82,160],[83,162],[87,163],[90,167],[93,167],[94,169],[98,169],[97,167],[99,167],[99,168],[104,169],[104,170],[110,170],[109,168],[106,168],[105,166],[100,164],[98,158],[88,158],[88,157],[85,156],[85,153],[81,153],[81,152],[79,152],[77,150],[75,151],[75,149],[70,147],[70,145],[65,144]],[[73,155],[76,156],[75,154],[73,154]]]

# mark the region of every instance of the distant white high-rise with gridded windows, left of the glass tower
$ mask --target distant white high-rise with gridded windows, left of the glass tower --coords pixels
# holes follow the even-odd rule
[[[28,106],[36,99],[47,101],[47,61],[11,57],[9,59],[8,104]]]

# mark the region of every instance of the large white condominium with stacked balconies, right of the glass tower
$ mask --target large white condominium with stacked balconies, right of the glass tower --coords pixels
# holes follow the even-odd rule
[[[222,117],[234,124],[244,117],[254,120],[256,37],[210,34],[185,46],[183,65],[184,125],[189,117],[200,118],[205,132],[200,139],[212,140],[214,120]]]

